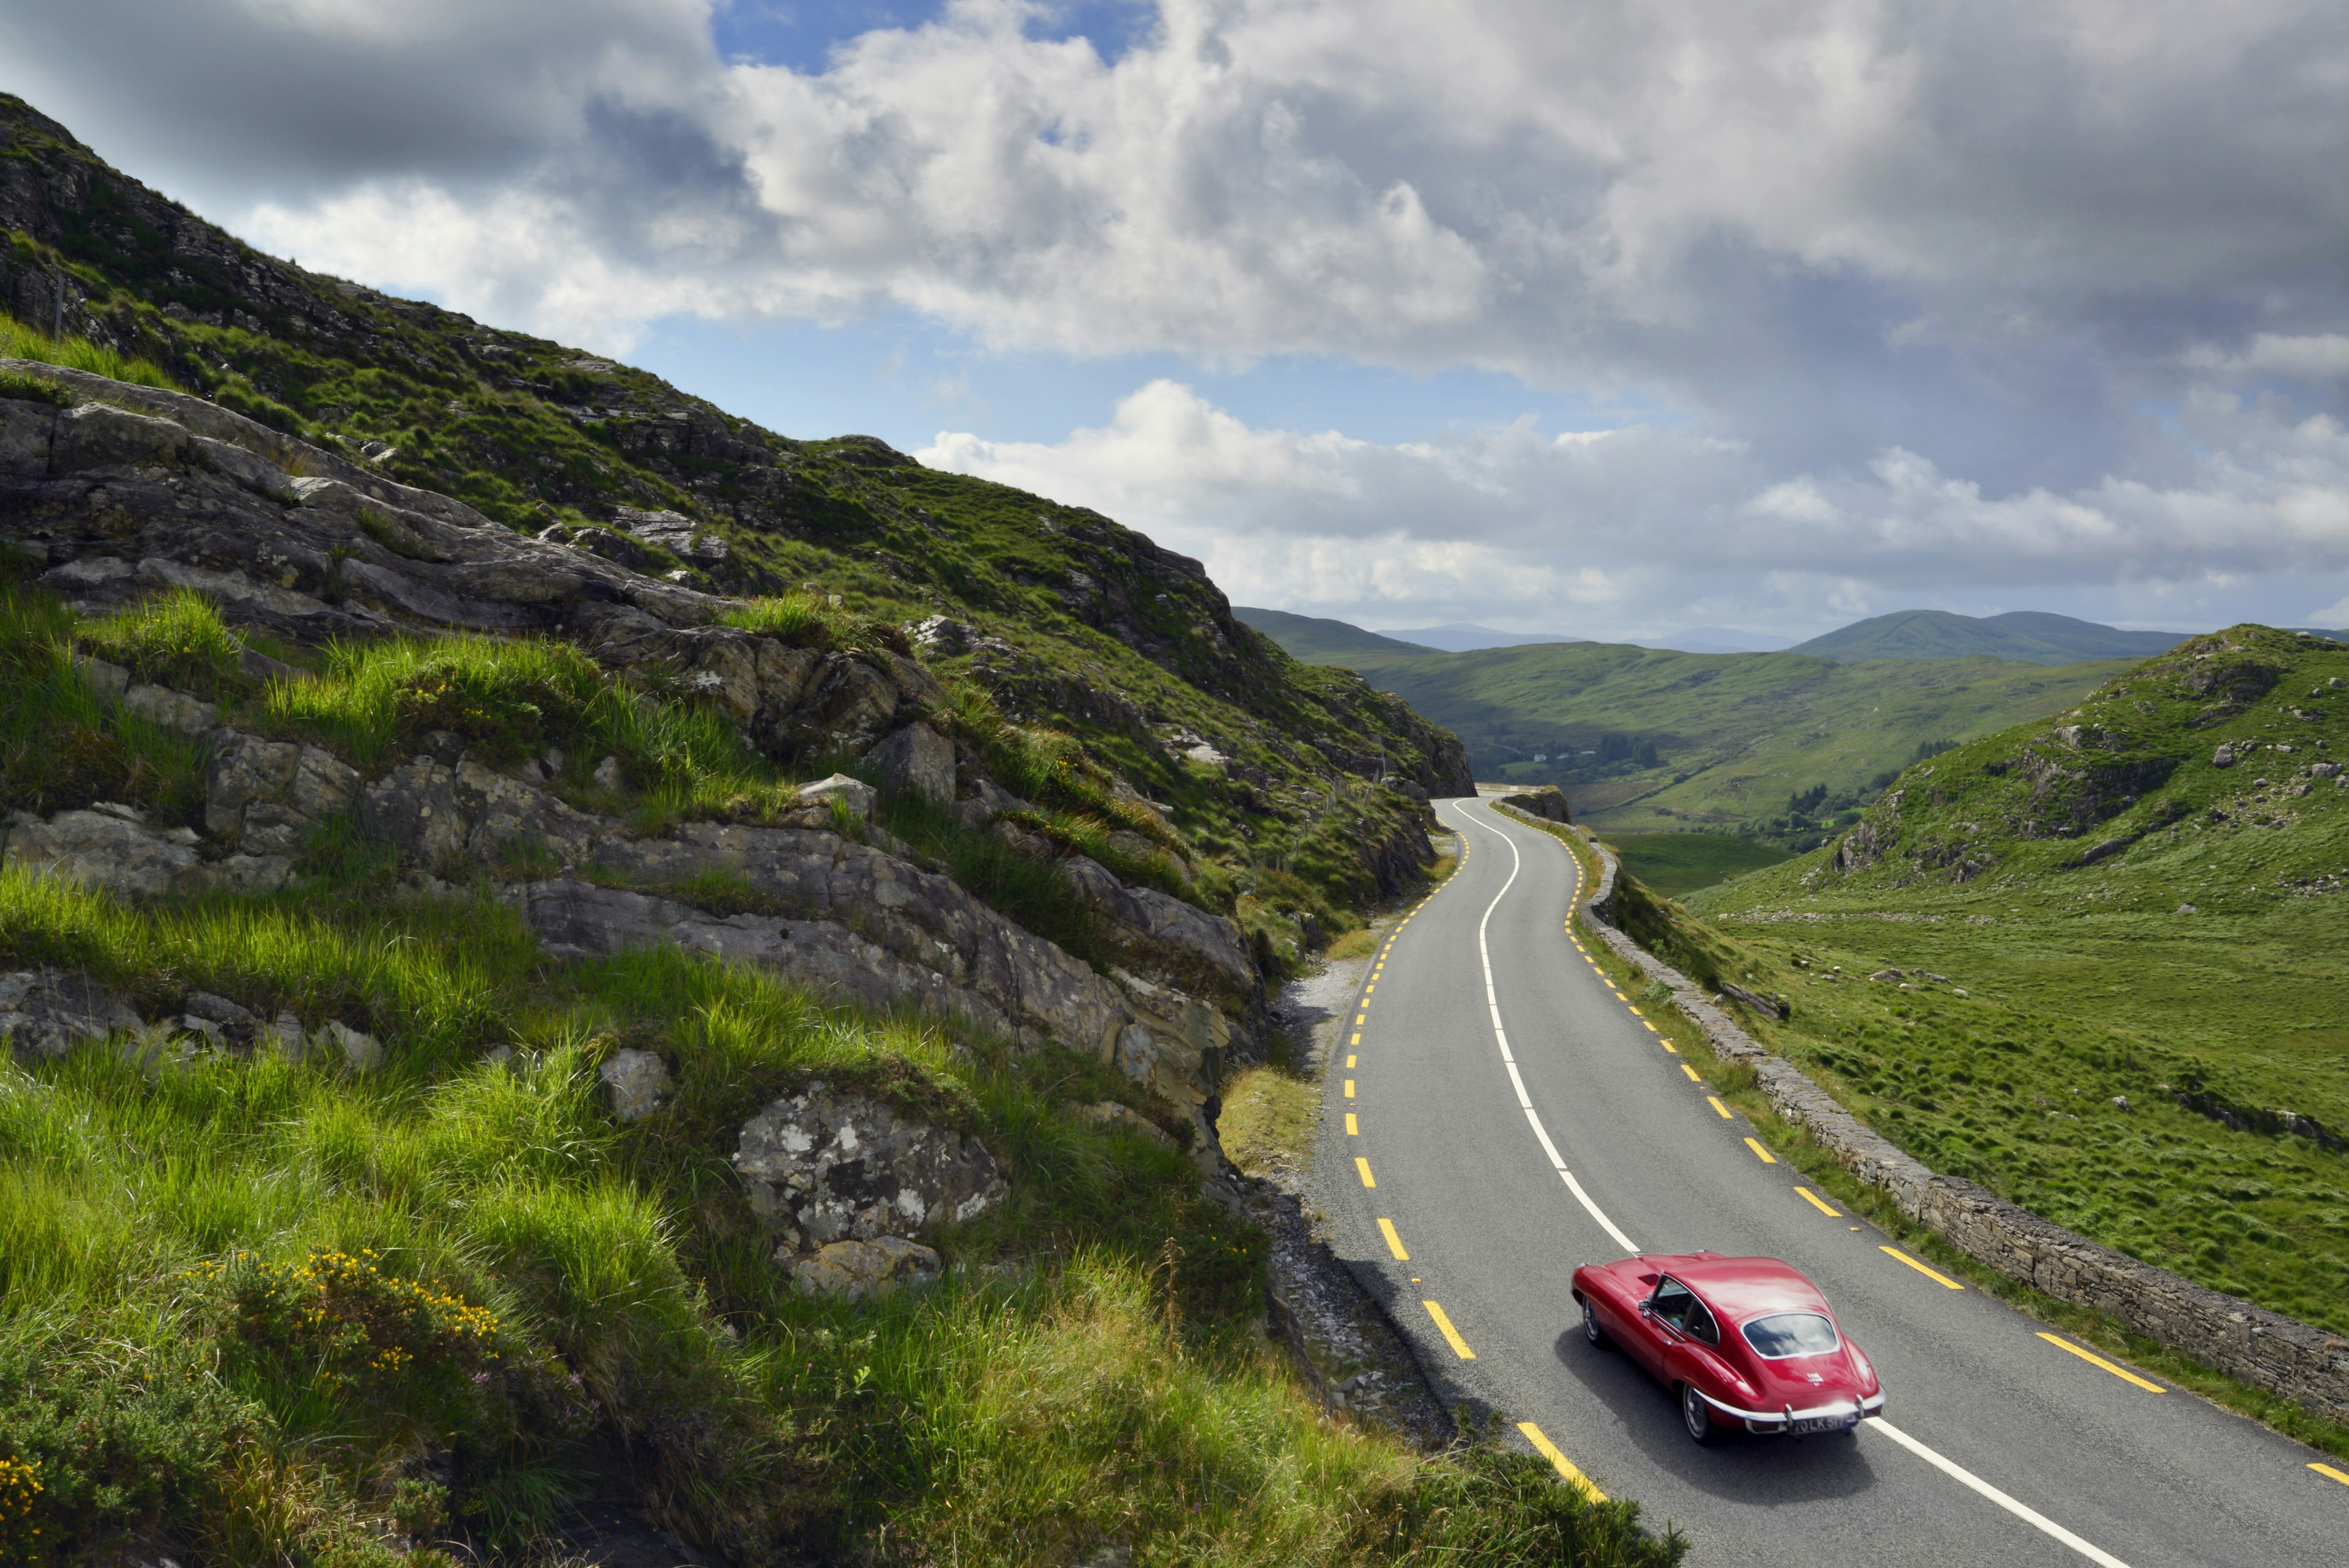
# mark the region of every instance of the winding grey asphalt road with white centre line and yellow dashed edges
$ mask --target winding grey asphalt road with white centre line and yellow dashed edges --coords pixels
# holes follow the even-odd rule
[[[2326,1455],[2138,1387],[2119,1371],[2140,1368],[2065,1352],[1823,1213],[1576,950],[1574,856],[1482,802],[1438,813],[1468,853],[1381,950],[1360,1041],[1353,1018],[1339,1034],[1315,1182],[1339,1253],[1447,1394],[1513,1443],[1532,1422],[1687,1530],[1691,1563],[2349,1563],[2349,1483],[2309,1469]],[[1884,1425],[1698,1448],[1665,1389],[1581,1335],[1574,1265],[1630,1244],[1806,1272],[1875,1359]]]

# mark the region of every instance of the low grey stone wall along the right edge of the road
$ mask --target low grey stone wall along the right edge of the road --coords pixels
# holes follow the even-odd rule
[[[1520,820],[1546,827],[1525,816]],[[2051,1225],[1985,1187],[1940,1175],[1910,1159],[1792,1063],[1771,1056],[1712,1006],[1694,980],[1623,936],[1614,926],[1614,851],[1588,830],[1569,832],[1581,835],[1600,858],[1600,884],[1583,900],[1588,924],[1600,940],[1651,980],[1672,987],[1672,1006],[1705,1032],[1715,1056],[1750,1065],[1771,1110],[1809,1128],[1846,1171],[1889,1192],[1903,1213],[1947,1237],[1976,1262],[2058,1300],[2109,1312],[2133,1333],[2203,1366],[2328,1420],[2349,1422],[2349,1340],[2138,1262]]]

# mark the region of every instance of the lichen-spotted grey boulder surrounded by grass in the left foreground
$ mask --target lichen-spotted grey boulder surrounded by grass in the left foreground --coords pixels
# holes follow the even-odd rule
[[[808,1084],[761,1110],[733,1157],[756,1213],[794,1251],[918,1237],[1003,1201],[994,1154],[864,1095]]]

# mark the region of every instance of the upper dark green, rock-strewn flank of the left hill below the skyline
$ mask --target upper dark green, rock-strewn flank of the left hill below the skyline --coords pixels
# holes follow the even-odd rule
[[[1419,799],[1468,790],[1447,731],[1348,672],[1290,661],[1233,621],[1198,562],[1106,517],[926,470],[871,437],[775,435],[644,371],[303,273],[16,99],[0,99],[0,301],[19,322],[143,357],[338,473],[564,545],[583,581],[606,581],[590,567],[608,562],[702,595],[813,588],[914,630],[935,677],[1078,736],[1165,802],[1198,858],[1229,870],[1226,900],[1327,924],[1421,858]],[[479,595],[449,592],[470,557],[383,548],[442,595],[399,607],[409,623],[566,630],[561,597],[484,618]]]

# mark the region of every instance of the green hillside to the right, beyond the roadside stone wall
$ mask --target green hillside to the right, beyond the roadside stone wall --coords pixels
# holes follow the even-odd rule
[[[2340,646],[2194,639],[2058,715],[2086,748],[2041,722],[1910,769],[1870,816],[1875,865],[1790,860],[1694,896],[1701,919],[1658,907],[1651,936],[1790,994],[1790,1023],[1748,1027],[1926,1164],[2349,1333],[2349,1154],[2173,1100],[2349,1128],[2349,790],[2286,792],[2349,757],[2344,696]],[[2295,750],[2217,769],[2220,741]],[[1919,990],[1865,978],[1884,966]]]

